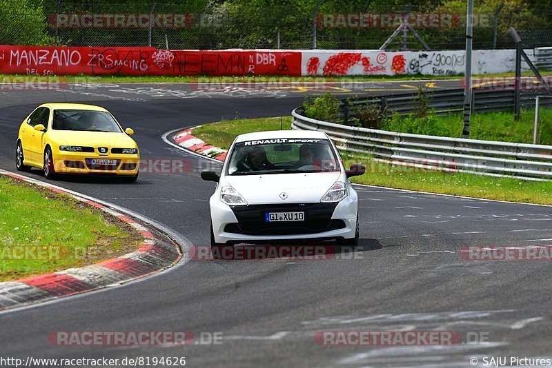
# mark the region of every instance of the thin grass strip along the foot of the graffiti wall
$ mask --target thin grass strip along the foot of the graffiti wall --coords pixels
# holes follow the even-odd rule
[[[541,72],[543,76],[552,75],[552,71]],[[524,72],[524,76],[534,76],[532,72]],[[495,74],[476,74],[474,77],[513,77],[513,73],[495,73]],[[125,76],[125,75],[105,75],[105,76],[88,76],[88,75],[59,75],[59,76],[37,76],[26,74],[0,74],[0,82],[51,82],[51,83],[206,83],[208,81],[216,81],[217,83],[240,83],[240,82],[339,82],[339,81],[419,81],[425,79],[462,79],[464,76],[447,75],[447,76],[431,76],[431,75],[396,75],[396,76],[379,76],[379,75],[359,75],[359,76]]]

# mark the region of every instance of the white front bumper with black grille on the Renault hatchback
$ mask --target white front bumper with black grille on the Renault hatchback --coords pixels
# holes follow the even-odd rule
[[[210,198],[215,242],[259,243],[262,241],[354,238],[357,229],[358,206],[356,193],[351,192],[337,204],[286,203],[286,205],[235,206],[234,209],[226,203],[222,203],[219,200],[219,193],[215,192]],[[265,212],[279,211],[304,211],[306,212],[306,221],[287,225],[282,223],[273,225],[273,223],[262,221]],[[253,221],[251,221],[252,219]],[[286,226],[293,227],[293,229],[288,232]],[[302,229],[303,226],[305,229]],[[306,228],[309,226],[310,228]]]

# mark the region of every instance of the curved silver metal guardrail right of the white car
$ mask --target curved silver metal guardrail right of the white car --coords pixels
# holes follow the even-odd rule
[[[497,94],[497,92],[494,93]],[[446,96],[455,96],[455,94],[442,92],[439,94],[439,99],[442,100]],[[497,102],[502,99],[503,102]],[[366,100],[364,101],[366,103]],[[480,110],[486,110],[486,106],[491,105],[496,108],[504,102],[509,102],[509,108],[512,108],[513,92],[511,98],[504,94],[494,102],[480,101],[480,105],[484,107]],[[477,110],[477,103],[475,108]],[[552,145],[387,132],[310,119],[302,113],[302,108],[296,108],[292,112],[294,130],[326,132],[340,150],[370,154],[376,159],[391,161],[398,165],[433,170],[489,176],[515,176],[515,178],[529,180],[552,179]]]

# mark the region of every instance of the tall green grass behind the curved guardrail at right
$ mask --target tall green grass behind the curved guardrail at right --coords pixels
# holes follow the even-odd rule
[[[382,130],[460,138],[462,121],[462,114],[431,113],[424,118],[393,116],[384,121]],[[533,143],[534,121],[534,108],[522,110],[519,121],[515,121],[512,112],[477,112],[471,118],[470,137],[485,141]],[[537,143],[552,145],[552,108],[539,109]]]

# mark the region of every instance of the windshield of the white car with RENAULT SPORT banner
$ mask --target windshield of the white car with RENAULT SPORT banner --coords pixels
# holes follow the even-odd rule
[[[234,145],[227,174],[332,172],[338,167],[327,139],[258,139]]]

